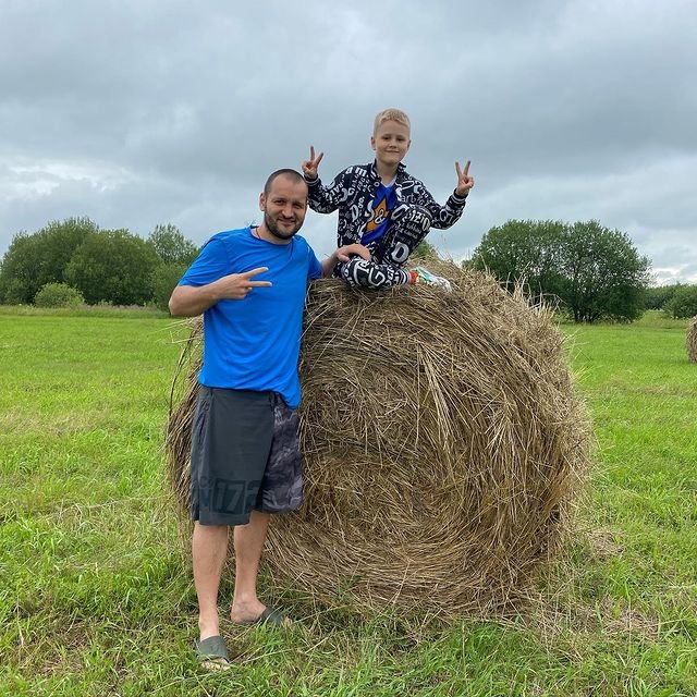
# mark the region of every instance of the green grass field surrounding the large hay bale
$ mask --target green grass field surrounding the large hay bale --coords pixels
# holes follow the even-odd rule
[[[181,330],[0,308],[0,695],[697,695],[697,366],[686,322],[564,326],[595,421],[567,558],[512,619],[222,625],[201,673],[161,443]],[[222,588],[222,602],[231,599]]]

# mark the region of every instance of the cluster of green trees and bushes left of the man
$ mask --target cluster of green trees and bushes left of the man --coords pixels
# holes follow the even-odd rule
[[[72,290],[90,305],[167,307],[197,254],[172,224],[157,225],[143,239],[124,229],[101,230],[89,218],[53,221],[12,239],[0,262],[0,303],[29,304],[57,293],[66,297]]]

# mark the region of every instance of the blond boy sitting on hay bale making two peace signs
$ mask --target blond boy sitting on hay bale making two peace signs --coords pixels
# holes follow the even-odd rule
[[[445,205],[439,206],[402,163],[412,144],[409,131],[409,119],[403,111],[378,113],[370,137],[375,161],[343,170],[328,186],[317,174],[323,152],[315,157],[310,146],[309,160],[303,162],[309,207],[320,213],[339,210],[337,246],[359,243],[371,255],[369,259],[353,256],[337,265],[334,276],[352,286],[428,283],[451,288],[447,279],[424,268],[408,271],[403,267],[431,227],[444,230],[460,220],[475,180],[469,176],[469,161],[462,171],[455,162],[457,186]]]

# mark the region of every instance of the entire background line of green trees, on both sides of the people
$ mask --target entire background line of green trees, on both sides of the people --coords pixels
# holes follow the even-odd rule
[[[88,304],[167,308],[198,247],[172,224],[147,239],[101,230],[89,218],[49,222],[16,234],[0,262],[0,303]],[[436,249],[421,243],[415,259]],[[509,220],[489,230],[466,266],[488,270],[506,289],[521,285],[577,322],[632,321],[645,309],[697,315],[697,285],[651,288],[650,260],[626,233],[598,221]]]

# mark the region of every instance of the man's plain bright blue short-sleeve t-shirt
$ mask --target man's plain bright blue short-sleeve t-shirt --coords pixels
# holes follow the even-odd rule
[[[271,281],[244,299],[223,299],[204,313],[204,364],[198,381],[210,388],[273,390],[291,408],[301,402],[297,374],[307,280],[322,269],[307,242],[295,235],[274,244],[252,228],[213,235],[179,285],[200,286],[259,267],[254,277]]]

